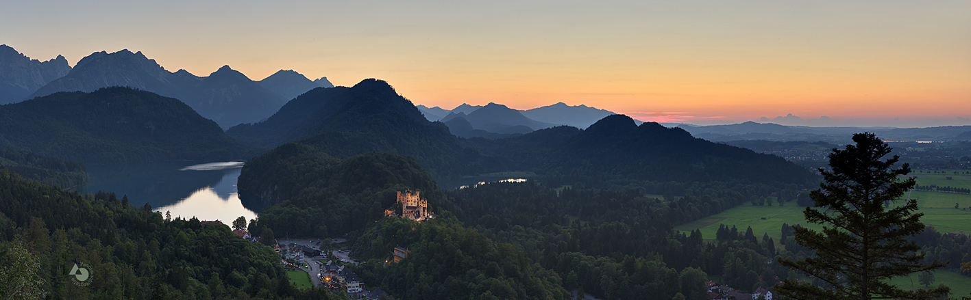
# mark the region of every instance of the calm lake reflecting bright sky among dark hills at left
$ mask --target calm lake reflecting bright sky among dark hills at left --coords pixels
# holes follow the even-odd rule
[[[90,177],[81,192],[128,195],[133,205],[151,205],[172,218],[196,217],[231,224],[256,212],[243,207],[236,191],[242,162],[159,162],[125,165],[87,165]]]

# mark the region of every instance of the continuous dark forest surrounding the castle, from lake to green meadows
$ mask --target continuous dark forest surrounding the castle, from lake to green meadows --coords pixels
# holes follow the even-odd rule
[[[409,157],[369,153],[338,160],[308,147],[287,144],[273,153],[293,153],[246,166],[241,186],[280,185],[267,195],[280,202],[263,210],[251,231],[350,232],[352,254],[367,260],[355,272],[396,297],[563,299],[580,288],[607,299],[667,300],[682,293],[701,300],[708,274],[739,275],[743,280],[733,284],[745,290],[775,280],[776,271],[764,263],[777,253],[768,246],[772,241],[706,244],[700,233],[678,234],[672,227],[786,186],[644,182],[610,191],[510,183],[445,194]],[[395,192],[405,189],[421,191],[437,217],[420,224],[385,217]],[[385,265],[396,246],[411,254]],[[773,276],[762,281],[763,273]]]

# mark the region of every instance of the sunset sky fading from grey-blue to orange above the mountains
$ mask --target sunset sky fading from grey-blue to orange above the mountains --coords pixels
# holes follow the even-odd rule
[[[643,121],[971,125],[971,1],[2,1],[35,59],[142,51],[416,105],[562,102]],[[796,118],[788,116],[791,114]],[[763,118],[764,117],[764,118]]]

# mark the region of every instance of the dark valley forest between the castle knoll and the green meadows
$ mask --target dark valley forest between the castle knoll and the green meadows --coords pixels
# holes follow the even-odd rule
[[[674,225],[778,189],[662,182],[610,191],[551,189],[535,182],[492,183],[450,192],[442,207],[485,236],[517,245],[543,267],[568,279],[566,288],[582,287],[604,299],[666,300],[682,292],[687,299],[702,300],[707,293],[689,294],[683,290],[684,283],[681,289],[671,283],[685,272],[688,278],[697,277],[690,271],[697,270],[706,278],[720,278],[720,284],[753,291],[774,285],[777,277],[790,276],[786,269],[766,261],[796,254],[775,249],[771,238],[754,236],[752,228],[705,242],[704,238],[715,237],[702,237],[699,231],[679,233]]]

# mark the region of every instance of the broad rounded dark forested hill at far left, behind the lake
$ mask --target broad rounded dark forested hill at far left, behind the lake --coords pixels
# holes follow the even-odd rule
[[[85,164],[245,159],[250,147],[179,100],[123,87],[0,106],[0,148]]]

